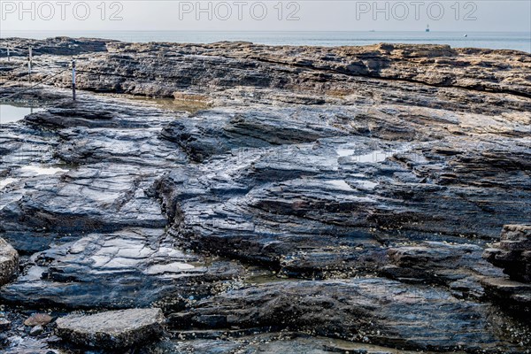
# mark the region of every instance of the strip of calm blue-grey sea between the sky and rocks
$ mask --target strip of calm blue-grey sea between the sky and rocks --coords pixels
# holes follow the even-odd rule
[[[123,42],[243,41],[266,45],[359,46],[379,42],[448,44],[452,48],[520,50],[531,53],[527,32],[464,31],[2,31],[0,38],[91,37]]]

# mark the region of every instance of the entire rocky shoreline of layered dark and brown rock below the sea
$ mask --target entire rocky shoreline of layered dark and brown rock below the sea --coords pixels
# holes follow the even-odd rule
[[[7,41],[1,350],[529,351],[531,55]]]

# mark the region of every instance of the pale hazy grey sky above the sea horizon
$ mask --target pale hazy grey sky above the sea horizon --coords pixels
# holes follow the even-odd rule
[[[519,31],[531,36],[531,1],[5,1],[12,30]]]

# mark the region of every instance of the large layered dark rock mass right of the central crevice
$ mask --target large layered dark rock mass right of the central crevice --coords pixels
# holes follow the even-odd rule
[[[490,152],[497,143],[453,136],[426,143],[338,137],[264,148],[245,147],[244,139],[230,140],[228,156],[219,156],[222,148],[199,167],[159,181],[174,235],[185,244],[278,265],[327,247],[351,255],[397,242],[481,243],[531,211],[529,150],[518,144],[502,165],[496,161],[503,153]],[[506,179],[513,183],[504,185]]]

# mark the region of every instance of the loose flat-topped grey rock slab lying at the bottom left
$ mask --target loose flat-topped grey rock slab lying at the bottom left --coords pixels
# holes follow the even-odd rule
[[[129,309],[57,320],[57,334],[74,344],[122,349],[157,339],[165,322],[160,309]]]

